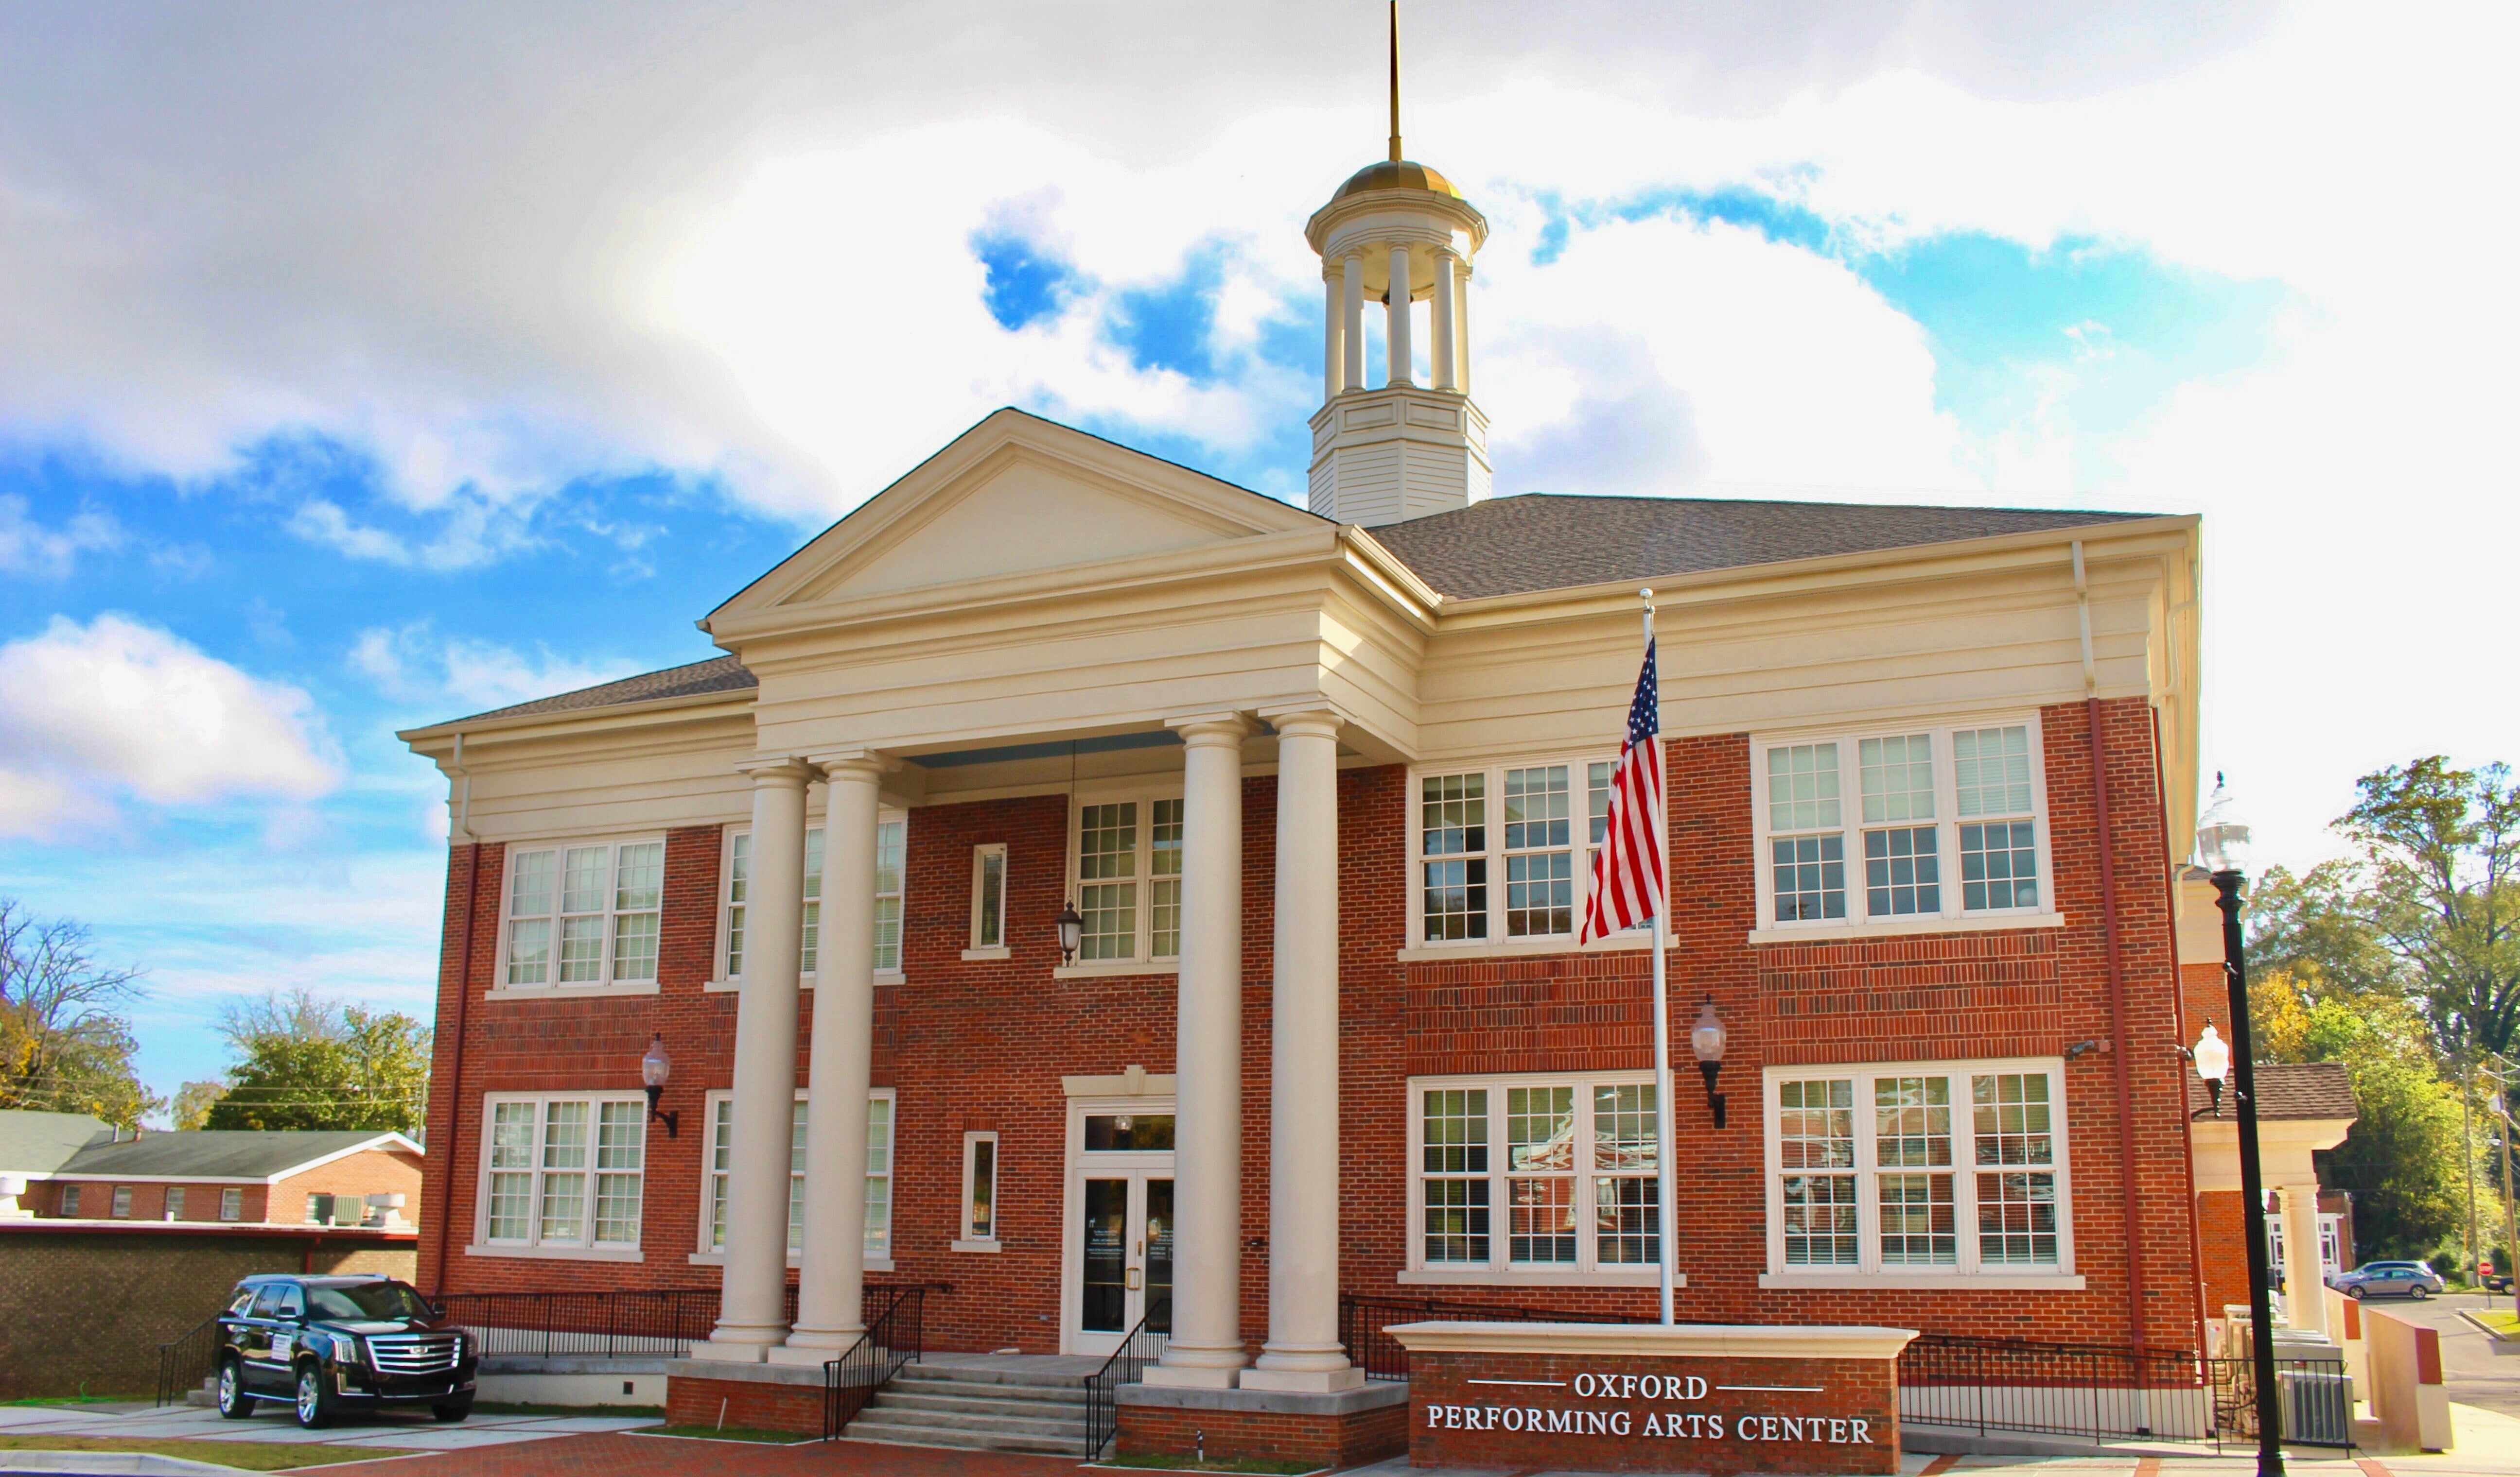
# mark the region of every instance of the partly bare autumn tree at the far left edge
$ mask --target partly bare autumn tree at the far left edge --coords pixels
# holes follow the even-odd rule
[[[88,928],[0,897],[0,1106],[139,1127],[166,1099],[131,1069],[139,970],[96,963]]]

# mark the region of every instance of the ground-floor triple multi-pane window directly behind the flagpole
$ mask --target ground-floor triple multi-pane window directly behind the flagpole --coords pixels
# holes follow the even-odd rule
[[[1411,1265],[1590,1273],[1661,1260],[1651,1081],[1419,1081],[1411,1104]]]

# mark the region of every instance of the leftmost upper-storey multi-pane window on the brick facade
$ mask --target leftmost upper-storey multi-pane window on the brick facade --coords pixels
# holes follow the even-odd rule
[[[655,978],[665,842],[512,849],[507,988]]]

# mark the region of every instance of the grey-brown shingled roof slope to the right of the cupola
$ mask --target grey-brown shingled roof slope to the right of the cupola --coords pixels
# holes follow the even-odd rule
[[[1716,497],[1492,497],[1373,529],[1449,600],[1532,595],[2142,519],[2134,512]]]

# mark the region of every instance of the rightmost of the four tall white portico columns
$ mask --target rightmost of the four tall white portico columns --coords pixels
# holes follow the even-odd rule
[[[1270,983],[1268,1343],[1242,1389],[1366,1384],[1338,1346],[1338,716],[1278,728]]]

